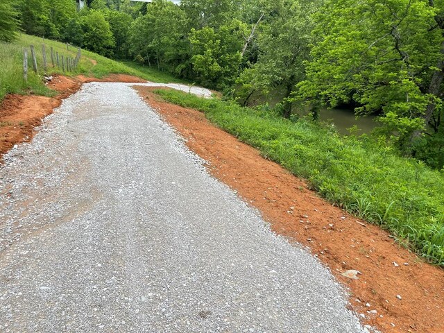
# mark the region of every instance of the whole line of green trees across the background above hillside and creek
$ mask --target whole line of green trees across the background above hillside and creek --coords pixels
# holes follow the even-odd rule
[[[3,0],[0,39],[22,31],[130,58],[250,105],[377,114],[373,135],[444,164],[444,0]]]

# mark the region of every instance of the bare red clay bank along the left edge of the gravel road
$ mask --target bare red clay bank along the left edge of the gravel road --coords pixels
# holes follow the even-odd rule
[[[146,82],[135,76],[112,74],[102,79],[77,76],[67,78],[66,76],[55,76],[48,84],[51,89],[58,92],[55,97],[45,96],[23,96],[10,94],[0,104],[0,157],[10,150],[15,144],[27,142],[34,135],[35,126],[39,126],[42,119],[51,114],[57,108],[62,99],[74,94],[80,89],[82,83],[92,81],[103,82]]]

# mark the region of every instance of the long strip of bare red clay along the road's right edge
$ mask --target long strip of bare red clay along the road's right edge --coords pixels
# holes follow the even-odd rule
[[[348,287],[350,307],[365,314],[363,323],[382,332],[444,332],[441,268],[400,248],[377,226],[332,207],[305,181],[216,128],[203,113],[166,103],[152,89],[137,87],[187,146],[210,162],[213,176],[262,212],[274,232],[304,244],[330,267]],[[348,270],[361,272],[359,280],[341,275]]]

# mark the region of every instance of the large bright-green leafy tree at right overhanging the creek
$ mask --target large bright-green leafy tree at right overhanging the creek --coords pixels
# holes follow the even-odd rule
[[[382,134],[414,153],[422,133],[441,127],[440,8],[443,1],[326,1],[316,15],[313,60],[300,96],[332,106],[354,102],[361,105],[358,113],[379,113]]]

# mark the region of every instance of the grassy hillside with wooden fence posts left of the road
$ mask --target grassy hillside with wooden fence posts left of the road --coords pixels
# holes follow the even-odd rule
[[[29,51],[29,46],[33,44],[35,46],[37,55],[37,67],[38,74],[32,71],[31,62],[31,51]],[[0,42],[0,101],[9,93],[17,94],[40,94],[51,96],[53,92],[48,89],[43,81],[42,74],[44,70],[43,56],[42,56],[42,44],[43,40],[40,37],[30,36],[30,35],[20,35],[19,39],[12,43],[1,43]],[[46,45],[46,58],[49,62],[49,67],[47,69],[48,74],[62,74],[62,69],[59,67],[51,66],[51,56],[50,48],[59,53],[60,56],[69,56],[74,58],[76,56],[77,49],[74,46],[69,47],[67,50],[66,44],[60,42],[54,42],[52,40],[44,40]],[[28,83],[25,82],[23,78],[23,50],[28,49]],[[67,73],[66,75],[77,75],[84,74],[87,76],[94,76],[96,78],[101,78],[108,74],[119,73],[119,74],[129,74],[133,76],[139,76],[146,80],[151,80],[153,82],[159,83],[183,83],[183,80],[178,80],[173,78],[171,75],[157,71],[157,69],[151,69],[149,67],[144,67],[138,65],[134,62],[117,62],[110,60],[103,56],[99,56],[96,53],[89,51],[82,51],[82,58],[80,64],[75,71]]]

